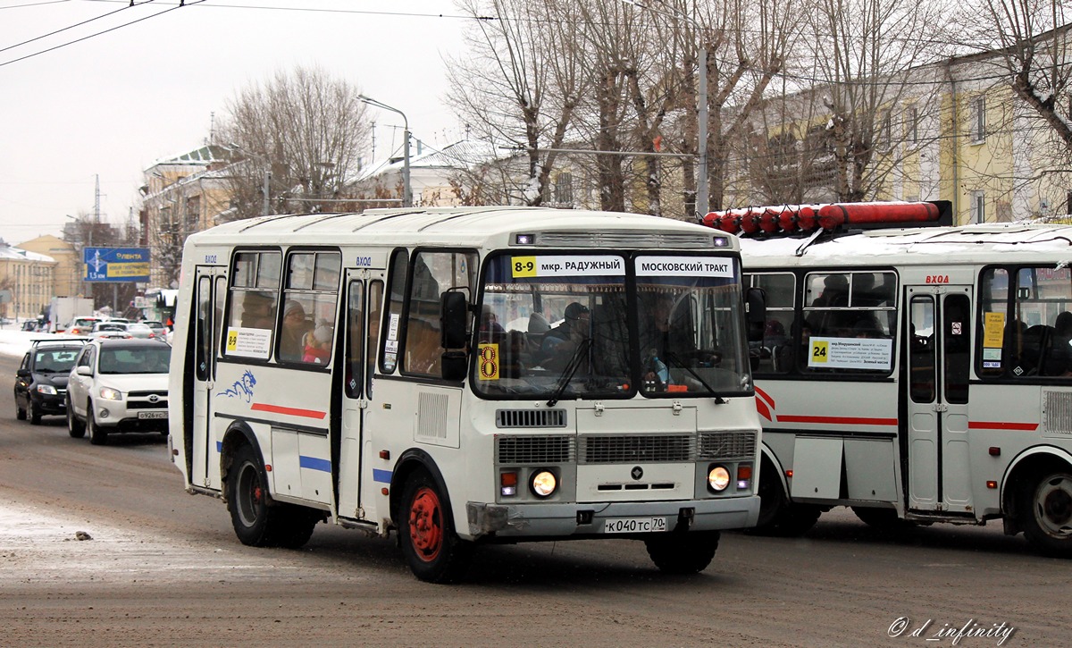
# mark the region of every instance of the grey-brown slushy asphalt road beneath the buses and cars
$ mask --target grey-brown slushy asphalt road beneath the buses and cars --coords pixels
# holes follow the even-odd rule
[[[1072,646],[1072,563],[993,522],[890,537],[838,510],[801,539],[725,533],[693,577],[629,541],[488,547],[450,587],[327,525],[242,546],[180,482],[158,435],[93,446],[16,421],[5,388],[0,646]]]

